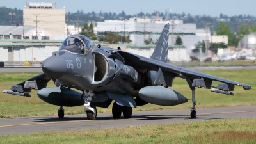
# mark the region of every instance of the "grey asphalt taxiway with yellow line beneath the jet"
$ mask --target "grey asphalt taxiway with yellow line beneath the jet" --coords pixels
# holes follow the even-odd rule
[[[197,109],[196,119],[190,118],[189,109],[136,111],[132,113],[130,119],[124,119],[123,116],[120,119],[114,119],[112,113],[98,113],[97,120],[92,121],[87,120],[85,114],[65,115],[63,119],[58,118],[58,116],[0,118],[0,135],[74,129],[103,129],[125,127],[127,125],[173,124],[222,118],[256,118],[256,106],[200,108]]]

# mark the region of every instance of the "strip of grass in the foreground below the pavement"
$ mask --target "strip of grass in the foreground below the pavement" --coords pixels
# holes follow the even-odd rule
[[[40,132],[0,136],[0,143],[255,143],[256,118]]]

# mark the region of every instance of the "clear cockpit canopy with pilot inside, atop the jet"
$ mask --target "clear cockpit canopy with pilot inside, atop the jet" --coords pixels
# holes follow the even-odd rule
[[[67,50],[77,54],[88,54],[92,48],[92,42],[84,35],[70,35],[60,47],[61,50]]]

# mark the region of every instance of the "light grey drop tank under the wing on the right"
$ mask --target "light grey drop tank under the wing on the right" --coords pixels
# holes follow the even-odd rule
[[[147,86],[139,91],[140,98],[151,104],[174,106],[188,102],[182,94],[170,88]]]

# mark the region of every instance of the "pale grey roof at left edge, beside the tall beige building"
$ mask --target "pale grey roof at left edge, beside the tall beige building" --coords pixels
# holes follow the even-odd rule
[[[35,29],[35,26],[25,26],[24,33],[27,33],[31,29]],[[23,35],[23,26],[0,26],[0,35]]]

